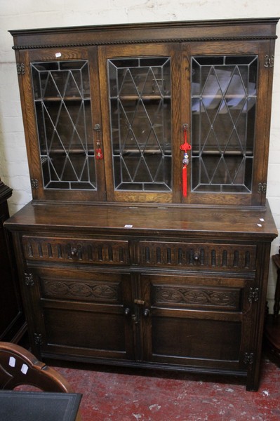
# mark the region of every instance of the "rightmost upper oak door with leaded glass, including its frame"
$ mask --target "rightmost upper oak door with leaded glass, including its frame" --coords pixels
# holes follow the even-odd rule
[[[266,180],[269,144],[269,41],[194,43],[183,48],[189,55],[189,72],[182,74],[182,113],[184,103],[190,102],[192,143],[185,202],[265,204],[259,185]]]

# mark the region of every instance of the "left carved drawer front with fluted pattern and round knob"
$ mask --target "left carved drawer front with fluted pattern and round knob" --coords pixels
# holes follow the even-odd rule
[[[129,265],[128,241],[23,236],[27,260]]]

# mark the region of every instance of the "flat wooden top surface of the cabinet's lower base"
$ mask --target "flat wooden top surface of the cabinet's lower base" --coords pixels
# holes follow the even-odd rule
[[[91,206],[28,203],[6,221],[11,231],[76,230],[77,233],[176,234],[272,240],[277,236],[272,213],[223,208],[164,208],[147,206]]]

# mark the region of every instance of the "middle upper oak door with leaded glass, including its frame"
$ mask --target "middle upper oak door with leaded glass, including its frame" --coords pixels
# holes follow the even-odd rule
[[[107,46],[99,57],[108,200],[178,200],[178,46]]]

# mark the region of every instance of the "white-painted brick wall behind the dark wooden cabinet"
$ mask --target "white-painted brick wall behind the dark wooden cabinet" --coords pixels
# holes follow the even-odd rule
[[[279,17],[279,0],[0,0],[0,178],[13,189],[10,212],[31,200],[18,93],[18,77],[8,29],[100,25],[161,20]],[[277,29],[280,34],[280,23]],[[276,41],[272,128],[268,190],[272,213],[280,232],[280,39]],[[272,243],[272,253],[279,248]],[[275,269],[269,276],[269,308],[272,309]]]

